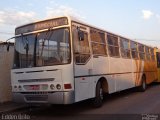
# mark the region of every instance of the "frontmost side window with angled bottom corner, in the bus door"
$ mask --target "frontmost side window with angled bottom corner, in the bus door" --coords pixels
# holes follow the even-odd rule
[[[84,32],[84,40],[79,40],[77,27],[72,26],[72,33],[76,64],[85,64],[90,58],[88,33]]]

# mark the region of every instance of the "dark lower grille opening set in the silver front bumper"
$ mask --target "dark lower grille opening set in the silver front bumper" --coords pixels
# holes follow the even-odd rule
[[[48,95],[26,95],[27,101],[47,101]]]

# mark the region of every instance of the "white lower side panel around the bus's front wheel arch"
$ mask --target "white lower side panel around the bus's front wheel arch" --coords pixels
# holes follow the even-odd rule
[[[106,78],[108,92],[116,92],[116,78],[112,75],[75,78],[75,102],[95,97],[96,84],[100,78]]]

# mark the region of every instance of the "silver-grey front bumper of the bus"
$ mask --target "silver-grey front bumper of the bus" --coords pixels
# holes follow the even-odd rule
[[[13,93],[13,101],[17,103],[72,104],[75,102],[74,91],[48,93]]]

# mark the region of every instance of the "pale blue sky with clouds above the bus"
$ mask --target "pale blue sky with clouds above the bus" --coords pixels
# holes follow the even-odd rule
[[[141,43],[160,47],[160,0],[3,0],[0,41],[14,36],[17,26],[71,15]]]

